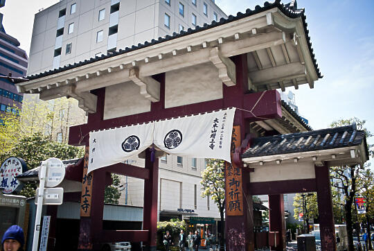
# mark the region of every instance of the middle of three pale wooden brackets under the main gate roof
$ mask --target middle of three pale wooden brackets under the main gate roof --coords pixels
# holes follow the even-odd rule
[[[139,69],[132,68],[129,71],[129,78],[140,87],[140,94],[152,102],[160,101],[160,83],[151,77],[139,77]]]

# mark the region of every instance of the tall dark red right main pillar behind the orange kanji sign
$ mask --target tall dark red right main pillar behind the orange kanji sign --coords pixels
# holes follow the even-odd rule
[[[248,92],[248,63],[247,54],[237,55],[231,58],[236,68],[236,85],[232,87],[223,86],[224,107],[242,108],[244,105],[244,94]],[[247,124],[244,120],[242,110],[236,110],[234,126],[240,126],[240,138],[244,139],[247,134]],[[238,165],[242,168],[242,164]],[[243,192],[243,215],[228,216],[225,213],[226,250],[254,250],[253,233],[253,199],[248,189],[249,170],[242,168],[242,192]]]

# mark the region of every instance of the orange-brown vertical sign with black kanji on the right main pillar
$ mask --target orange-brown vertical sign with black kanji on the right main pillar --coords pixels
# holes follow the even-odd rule
[[[233,126],[231,136],[231,157],[235,149],[240,147],[240,126]],[[234,162],[225,162],[224,172],[226,192],[226,214],[228,216],[243,215],[243,189],[242,189],[242,168]]]

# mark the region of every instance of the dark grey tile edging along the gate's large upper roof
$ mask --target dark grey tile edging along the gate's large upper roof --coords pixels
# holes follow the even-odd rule
[[[95,58],[90,58],[89,60],[80,61],[80,62],[77,62],[77,63],[74,63],[74,64],[68,64],[64,67],[60,67],[59,69],[53,69],[53,70],[45,71],[43,73],[38,73],[36,75],[27,76],[26,78],[28,78],[28,80],[35,80],[37,78],[43,78],[45,76],[50,76],[54,73],[67,71],[69,69],[73,69],[75,67],[80,67],[80,66],[85,65],[85,64],[90,64],[92,62],[98,62],[100,60],[105,60],[107,58],[112,58],[116,55],[129,53],[130,51],[135,51],[137,49],[142,49],[142,48],[145,48],[145,47],[148,47],[148,46],[152,46],[154,44],[160,44],[162,42],[167,42],[167,41],[176,39],[178,37],[184,37],[186,35],[198,33],[200,31],[206,31],[209,28],[213,28],[213,27],[220,26],[220,25],[223,25],[223,24],[228,24],[232,21],[243,19],[245,17],[249,17],[251,15],[255,15],[257,13],[260,13],[260,12],[263,12],[263,11],[266,11],[266,10],[270,10],[271,8],[278,8],[279,10],[281,10],[281,12],[283,12],[284,15],[286,15],[287,17],[290,17],[290,18],[301,17],[301,19],[303,20],[303,27],[304,27],[306,40],[308,42],[310,55],[312,57],[312,61],[313,61],[313,64],[314,64],[314,69],[317,72],[317,76],[319,78],[322,78],[321,72],[319,71],[319,67],[318,67],[318,64],[317,64],[317,60],[316,60],[315,55],[313,53],[312,42],[310,42],[309,31],[308,31],[308,28],[307,28],[308,24],[305,21],[306,16],[305,16],[304,10],[303,9],[295,10],[294,6],[290,6],[290,4],[284,5],[283,3],[281,3],[281,0],[276,0],[274,3],[269,3],[269,2],[266,1],[264,3],[263,7],[256,6],[254,10],[247,9],[244,13],[238,12],[236,14],[236,16],[229,15],[229,17],[227,19],[224,19],[222,17],[220,19],[220,21],[212,21],[211,24],[204,24],[204,26],[202,26],[202,27],[195,26],[194,29],[188,28],[187,31],[181,31],[180,33],[172,33],[172,35],[166,35],[166,37],[159,37],[158,40],[152,39],[150,42],[148,42],[148,41],[144,42],[144,44],[139,43],[137,46],[133,45],[131,48],[126,47],[125,49],[120,49],[119,51],[114,51],[113,53],[107,53],[107,55],[103,54],[101,56],[96,56]]]

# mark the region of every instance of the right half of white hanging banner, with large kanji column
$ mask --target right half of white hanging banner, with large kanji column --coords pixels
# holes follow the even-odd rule
[[[235,108],[157,121],[154,144],[171,155],[231,162],[230,142]]]

